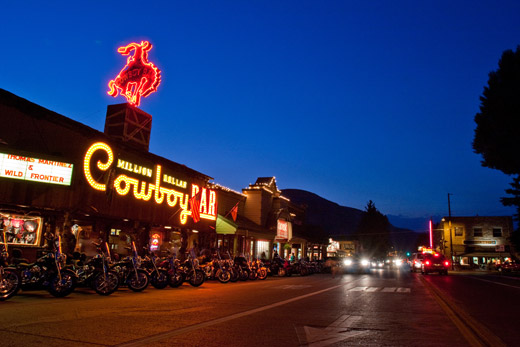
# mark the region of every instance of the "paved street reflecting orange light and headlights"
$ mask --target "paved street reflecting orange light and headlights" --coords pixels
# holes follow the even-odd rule
[[[520,281],[376,271],[109,297],[22,292],[0,303],[2,346],[518,345]]]

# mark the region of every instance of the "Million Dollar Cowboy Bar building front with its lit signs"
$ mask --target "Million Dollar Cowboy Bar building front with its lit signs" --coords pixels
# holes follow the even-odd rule
[[[0,232],[24,256],[46,233],[68,252],[95,252],[102,239],[121,255],[130,241],[178,252],[216,241],[211,177],[148,152],[149,126],[140,142],[120,133],[117,119],[144,112],[116,106],[103,133],[0,90]]]

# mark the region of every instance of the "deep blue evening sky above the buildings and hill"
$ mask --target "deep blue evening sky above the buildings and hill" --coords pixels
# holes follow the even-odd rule
[[[117,48],[149,40],[150,151],[410,217],[511,215],[471,142],[518,1],[4,1],[0,87],[103,131]],[[520,96],[519,96],[520,97]]]

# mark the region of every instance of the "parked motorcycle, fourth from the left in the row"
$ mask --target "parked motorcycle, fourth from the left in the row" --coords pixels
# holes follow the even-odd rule
[[[137,254],[135,243],[132,242],[132,247],[127,249],[132,255],[112,264],[110,269],[117,273],[119,285],[126,285],[134,292],[143,291],[150,282],[148,272],[141,268],[141,258]]]

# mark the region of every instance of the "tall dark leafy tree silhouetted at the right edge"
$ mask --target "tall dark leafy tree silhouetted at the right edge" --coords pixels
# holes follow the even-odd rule
[[[482,166],[500,170],[513,178],[513,189],[502,198],[506,206],[516,206],[520,217],[520,46],[516,52],[502,53],[498,69],[489,73],[488,86],[480,97],[480,112],[475,115],[473,149],[481,154]],[[519,240],[519,230],[515,231]],[[519,245],[516,244],[518,247]],[[517,248],[518,249],[518,248]]]

